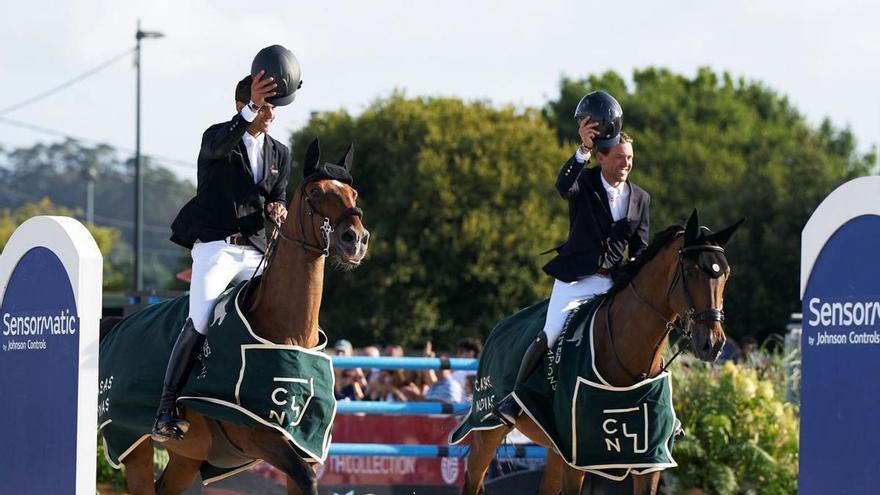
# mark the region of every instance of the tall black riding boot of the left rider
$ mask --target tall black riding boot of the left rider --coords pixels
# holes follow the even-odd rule
[[[183,330],[177,336],[177,342],[174,343],[174,349],[171,350],[171,357],[168,359],[168,367],[165,369],[165,385],[162,389],[162,397],[159,399],[156,422],[153,423],[153,432],[150,435],[157,442],[180,440],[189,430],[189,421],[178,415],[176,403],[192,370],[195,356],[198,355],[204,341],[205,336],[197,332],[192,320],[187,318]]]

